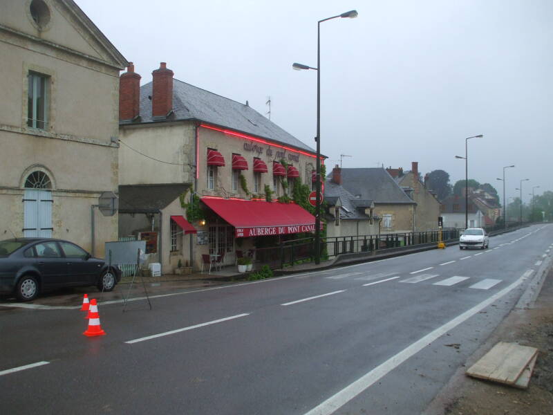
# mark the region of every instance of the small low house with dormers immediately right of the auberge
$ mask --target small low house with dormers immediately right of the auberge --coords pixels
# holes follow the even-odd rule
[[[358,199],[341,185],[341,169],[332,169],[324,185],[326,234],[328,237],[357,237],[378,234],[379,220],[374,218],[375,203]]]

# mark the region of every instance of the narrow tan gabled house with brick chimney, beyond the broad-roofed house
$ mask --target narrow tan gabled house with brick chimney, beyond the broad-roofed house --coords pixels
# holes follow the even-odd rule
[[[400,185],[404,192],[417,203],[415,207],[415,231],[433,230],[438,228],[438,216],[440,216],[440,201],[427,188],[427,181],[420,181],[418,162],[411,163],[411,171],[404,172],[399,169],[386,169],[394,178],[395,183]]]

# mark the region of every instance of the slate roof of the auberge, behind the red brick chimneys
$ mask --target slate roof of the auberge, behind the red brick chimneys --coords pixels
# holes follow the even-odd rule
[[[151,117],[152,84],[140,86],[140,122],[158,122]],[[173,80],[173,111],[167,121],[203,121],[316,152],[251,107],[176,79]]]

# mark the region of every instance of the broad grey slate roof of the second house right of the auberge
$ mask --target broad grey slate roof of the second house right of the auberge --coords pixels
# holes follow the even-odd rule
[[[341,169],[341,185],[354,196],[360,195],[359,199],[375,203],[415,204],[382,167]]]

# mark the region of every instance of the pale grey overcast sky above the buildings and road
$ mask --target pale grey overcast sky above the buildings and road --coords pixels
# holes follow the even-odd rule
[[[444,169],[507,197],[553,190],[553,1],[76,0],[142,75],[175,77],[250,106],[315,148],[317,21],[327,165]]]

